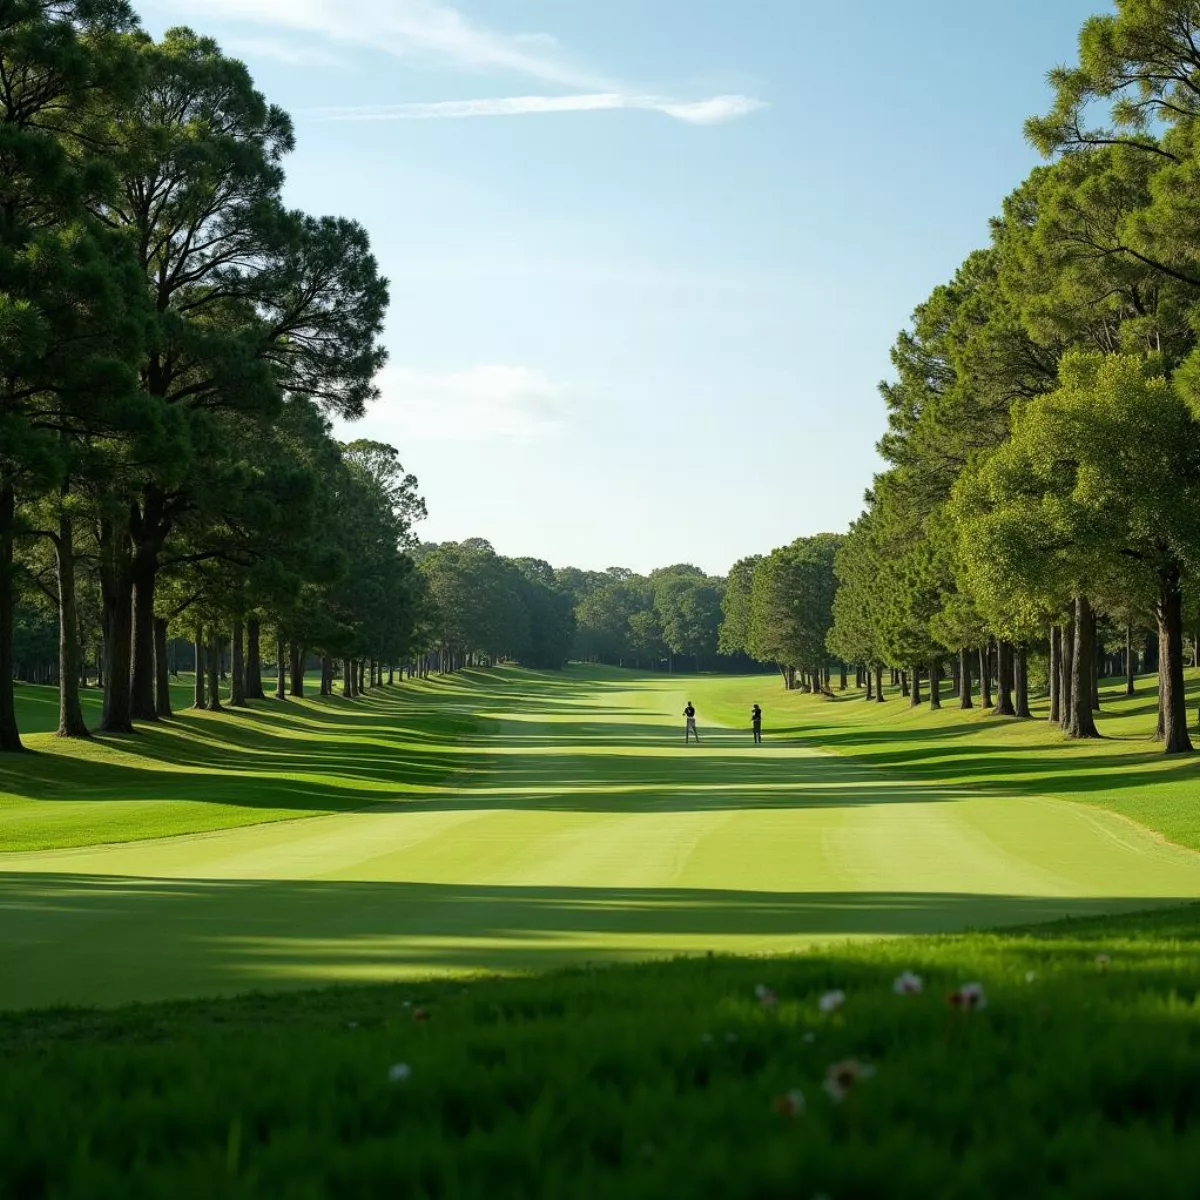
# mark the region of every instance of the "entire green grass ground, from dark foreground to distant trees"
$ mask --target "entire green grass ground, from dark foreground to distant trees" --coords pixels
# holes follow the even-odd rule
[[[1162,834],[1200,841],[1195,767],[1152,697],[1105,707],[1070,744],[577,668],[35,734],[0,1195],[1190,1198],[1200,856]]]

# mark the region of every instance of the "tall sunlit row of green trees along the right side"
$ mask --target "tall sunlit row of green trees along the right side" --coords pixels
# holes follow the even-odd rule
[[[1097,677],[1158,671],[1192,749],[1200,570],[1200,7],[1117,0],[1026,132],[1046,162],[916,310],[882,385],[887,462],[836,554],[829,647],[959,702],[1096,737]],[[1148,638],[1148,644],[1147,643]],[[995,679],[995,696],[990,685]],[[877,698],[882,695],[876,690]]]

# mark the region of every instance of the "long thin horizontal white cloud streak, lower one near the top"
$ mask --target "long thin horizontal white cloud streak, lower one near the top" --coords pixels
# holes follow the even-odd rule
[[[539,113],[598,113],[616,108],[637,108],[665,113],[690,125],[720,125],[763,107],[751,96],[713,96],[710,100],[680,101],[667,96],[630,96],[618,91],[575,96],[508,96],[496,100],[443,100],[434,103],[373,104],[317,109],[317,116],[331,121],[428,121],[468,116],[527,116]]]

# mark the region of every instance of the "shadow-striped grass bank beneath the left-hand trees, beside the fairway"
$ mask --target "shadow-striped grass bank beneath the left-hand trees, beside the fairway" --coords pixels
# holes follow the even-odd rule
[[[461,686],[461,685],[460,685]],[[133,734],[53,736],[58,694],[18,688],[30,754],[0,756],[0,851],[203,833],[360,809],[442,784],[469,766],[476,722],[460,686],[386,688],[361,700],[312,696],[176,715]],[[100,697],[85,695],[98,720]]]

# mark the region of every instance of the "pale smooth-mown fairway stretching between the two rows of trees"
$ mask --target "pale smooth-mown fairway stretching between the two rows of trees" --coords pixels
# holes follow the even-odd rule
[[[376,692],[370,738],[323,725],[336,697],[293,702],[312,718],[302,738],[263,720],[220,769],[176,778],[190,804],[209,780],[211,804],[236,805],[230,787],[265,788],[319,744],[343,811],[0,854],[0,1006],[780,953],[1200,896],[1200,854],[1103,809],[906,780],[773,734],[776,689],[478,672]],[[698,746],[683,742],[689,698]],[[755,700],[761,746],[734,727]],[[403,774],[414,749],[444,763],[439,781]],[[131,803],[79,794],[26,796],[13,820]]]

